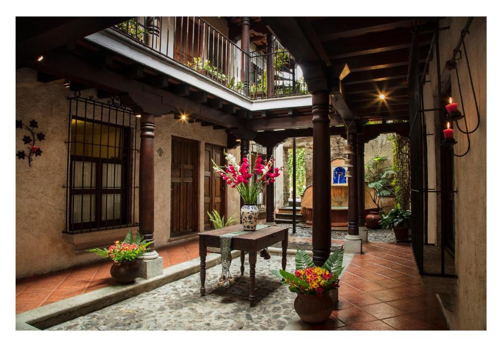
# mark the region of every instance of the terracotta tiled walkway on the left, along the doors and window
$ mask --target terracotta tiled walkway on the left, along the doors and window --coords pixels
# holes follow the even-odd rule
[[[157,249],[164,268],[199,257],[198,240]],[[114,284],[110,262],[101,262],[16,283],[16,313],[50,304]]]

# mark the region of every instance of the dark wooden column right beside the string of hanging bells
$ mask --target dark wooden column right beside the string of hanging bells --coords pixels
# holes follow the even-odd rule
[[[353,169],[351,169],[351,176],[348,182],[348,234],[359,235],[358,228],[358,133],[356,129],[348,130],[348,144],[351,145],[353,154],[349,154]],[[313,207],[314,208],[314,207]]]

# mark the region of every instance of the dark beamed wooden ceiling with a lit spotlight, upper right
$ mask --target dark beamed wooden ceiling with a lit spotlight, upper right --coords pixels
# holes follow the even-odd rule
[[[325,88],[341,92],[352,117],[408,118],[406,78],[413,31],[418,32],[422,70],[435,18],[263,17],[262,21],[295,57],[311,91],[324,82]],[[340,91],[339,74],[330,71],[339,71],[342,64],[351,72]],[[317,76],[311,78],[310,74]],[[320,81],[320,74],[324,81]],[[379,98],[381,94],[384,100]]]

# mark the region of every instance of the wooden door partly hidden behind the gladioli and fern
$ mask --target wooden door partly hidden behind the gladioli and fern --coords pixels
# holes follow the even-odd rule
[[[213,170],[211,159],[218,165],[225,163],[224,147],[207,143],[204,147],[204,228],[211,229],[207,211],[217,210],[220,216],[225,215],[225,183]],[[227,219],[227,216],[225,216]]]

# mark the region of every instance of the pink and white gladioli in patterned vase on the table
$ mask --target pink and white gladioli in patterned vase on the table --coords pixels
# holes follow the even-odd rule
[[[262,154],[258,154],[250,172],[248,155],[239,164],[232,154],[226,152],[224,154],[228,164],[219,166],[212,160],[213,169],[220,174],[227,185],[237,189],[244,202],[241,207],[243,230],[254,231],[259,220],[257,197],[265,186],[274,183],[275,179],[280,176],[282,168],[273,167],[274,159],[272,157],[268,161],[264,161]]]

